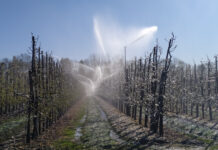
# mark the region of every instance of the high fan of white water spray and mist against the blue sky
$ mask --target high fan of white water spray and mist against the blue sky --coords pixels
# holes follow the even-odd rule
[[[120,27],[113,21],[108,22],[104,18],[96,16],[93,18],[93,31],[101,57],[122,57],[124,45],[130,47],[134,44],[134,50],[142,52],[142,46],[148,46],[157,30],[157,26]],[[142,41],[144,42],[142,43]]]

